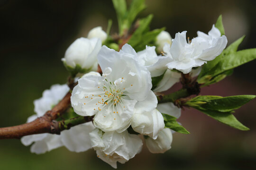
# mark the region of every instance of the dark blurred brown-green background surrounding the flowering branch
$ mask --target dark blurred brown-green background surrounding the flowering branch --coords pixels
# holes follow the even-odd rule
[[[241,49],[256,47],[256,0],[146,0],[140,17],[153,13],[151,29],[165,26],[174,37],[187,30],[207,33],[219,14],[228,41],[243,34]],[[111,0],[0,0],[0,127],[26,122],[33,100],[51,85],[66,82],[68,72],[61,58],[67,47],[89,30],[113,19],[111,33],[118,30]],[[256,94],[256,61],[236,68],[234,74],[201,94]],[[179,121],[191,134],[174,134],[172,149],[149,153],[146,147],[119,170],[253,170],[256,169],[256,102],[237,110],[236,117],[250,131],[222,125],[196,110],[183,110]],[[19,140],[0,140],[0,170],[112,169],[91,149],[72,153],[64,147],[36,155]]]

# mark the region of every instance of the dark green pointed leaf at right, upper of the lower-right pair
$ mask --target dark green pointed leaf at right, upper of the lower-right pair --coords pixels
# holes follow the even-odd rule
[[[254,99],[255,95],[237,95],[229,97],[221,96],[198,96],[190,100],[188,105],[196,102],[205,102],[200,104],[201,109],[216,110],[220,112],[230,112],[240,108],[242,105]]]

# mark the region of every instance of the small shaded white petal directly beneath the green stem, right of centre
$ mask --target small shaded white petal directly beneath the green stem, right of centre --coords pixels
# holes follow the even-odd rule
[[[159,103],[156,109],[177,119],[181,116],[181,109],[175,106],[173,102]]]

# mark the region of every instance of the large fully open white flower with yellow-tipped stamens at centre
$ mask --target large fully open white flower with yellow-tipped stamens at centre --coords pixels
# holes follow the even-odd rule
[[[137,63],[136,56],[128,44],[119,52],[103,46],[98,54],[103,76],[78,80],[71,96],[74,111],[82,116],[95,115],[94,126],[103,131],[123,132],[130,126],[134,109],[155,109],[150,73]]]

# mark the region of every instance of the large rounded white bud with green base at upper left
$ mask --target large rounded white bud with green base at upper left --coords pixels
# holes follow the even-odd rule
[[[62,59],[67,69],[79,72],[97,71],[97,54],[101,49],[99,38],[78,38],[66,50]]]

